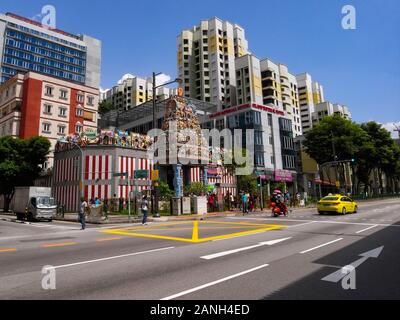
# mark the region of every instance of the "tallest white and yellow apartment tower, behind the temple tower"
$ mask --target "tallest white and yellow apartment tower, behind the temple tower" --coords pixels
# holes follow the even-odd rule
[[[177,39],[178,75],[184,96],[219,109],[236,104],[235,59],[248,53],[242,27],[218,18],[203,20]]]

